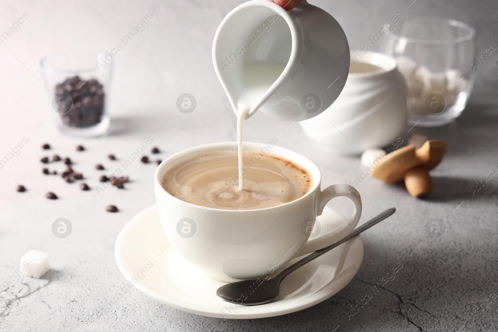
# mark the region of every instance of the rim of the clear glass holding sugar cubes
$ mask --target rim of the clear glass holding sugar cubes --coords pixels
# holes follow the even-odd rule
[[[440,22],[446,23],[451,26],[456,26],[467,30],[467,34],[462,37],[450,38],[450,39],[422,39],[422,38],[413,38],[413,37],[405,37],[400,34],[389,32],[387,36],[393,39],[403,39],[409,43],[413,44],[425,44],[425,45],[440,45],[440,44],[457,44],[464,41],[472,40],[476,35],[476,30],[467,23],[462,21],[458,21],[456,19],[444,18],[438,16],[415,16],[413,18],[408,19],[407,21],[434,21],[438,20]],[[384,24],[384,27],[389,22]]]

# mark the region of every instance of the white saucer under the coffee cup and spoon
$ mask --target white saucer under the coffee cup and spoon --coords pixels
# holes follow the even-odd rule
[[[324,222],[324,217],[331,220]],[[331,228],[344,220],[333,210],[324,217],[322,225],[331,222]],[[124,226],[116,240],[116,261],[124,277],[135,281],[134,286],[140,292],[170,307],[229,319],[273,317],[311,307],[344,288],[363,260],[363,241],[357,236],[292,272],[282,281],[280,295],[272,302],[246,307],[220,300],[216,290],[225,283],[205,276],[169,244],[156,206],[140,212]],[[151,263],[153,267],[147,267]]]

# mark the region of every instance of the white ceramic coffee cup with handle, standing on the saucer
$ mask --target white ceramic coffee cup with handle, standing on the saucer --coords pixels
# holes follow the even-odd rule
[[[358,223],[362,213],[358,191],[346,184],[322,191],[320,170],[311,160],[272,143],[244,142],[243,149],[260,151],[259,157],[276,154],[304,166],[313,177],[313,187],[295,201],[264,209],[222,210],[184,202],[162,187],[164,174],[175,165],[202,153],[232,149],[237,151],[237,142],[193,147],[164,160],[154,175],[157,209],[166,237],[185,260],[206,275],[224,281],[267,275],[295,256],[338,241]],[[338,196],[355,204],[351,218],[327,234],[309,238],[316,217]]]

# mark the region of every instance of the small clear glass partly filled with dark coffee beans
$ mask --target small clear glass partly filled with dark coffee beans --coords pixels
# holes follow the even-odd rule
[[[71,136],[94,137],[110,128],[107,115],[114,58],[104,52],[52,54],[40,66],[59,129]]]

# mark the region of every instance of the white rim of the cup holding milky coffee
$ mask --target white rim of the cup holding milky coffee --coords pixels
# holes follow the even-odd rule
[[[227,149],[227,145],[229,147],[235,147],[237,148],[237,142],[235,141],[232,141],[232,142],[224,142],[224,143],[209,143],[209,144],[203,144],[203,145],[198,145],[198,146],[194,146],[194,147],[191,147],[191,148],[188,148],[188,149],[185,149],[185,150],[182,150],[180,152],[177,152],[171,156],[169,156],[168,158],[166,158],[165,160],[163,160],[161,162],[161,164],[159,166],[157,166],[156,170],[155,170],[155,173],[154,173],[154,187],[157,190],[159,190],[162,194],[166,195],[167,197],[173,199],[175,202],[177,202],[178,204],[181,204],[181,205],[186,205],[187,207],[190,207],[191,209],[199,209],[199,210],[203,210],[203,213],[206,212],[206,211],[211,211],[211,212],[216,212],[216,213],[253,213],[253,212],[259,212],[259,211],[269,211],[269,210],[277,210],[277,209],[282,209],[282,208],[285,208],[287,205],[289,204],[294,204],[295,202],[300,202],[302,200],[306,200],[308,199],[308,197],[310,195],[313,195],[313,193],[315,193],[315,191],[318,189],[320,190],[320,185],[321,185],[321,181],[322,181],[322,174],[320,172],[320,169],[318,168],[318,166],[316,166],[316,164],[314,162],[312,162],[309,158],[303,156],[302,154],[300,153],[297,153],[295,151],[292,151],[290,149],[287,149],[287,148],[284,148],[284,147],[281,147],[281,146],[276,146],[274,145],[271,149],[273,148],[277,148],[278,151],[275,151],[276,153],[273,153],[273,151],[271,151],[270,153],[271,154],[275,154],[277,156],[280,156],[279,154],[279,151],[283,151],[285,153],[289,153],[291,155],[294,155],[298,158],[301,158],[301,160],[304,160],[305,163],[308,163],[309,166],[312,166],[312,167],[306,167],[304,165],[301,165],[301,163],[295,161],[295,160],[292,160],[291,158],[288,158],[288,157],[284,157],[284,158],[287,158],[287,159],[290,159],[292,161],[294,161],[295,163],[303,166],[304,168],[306,168],[311,176],[313,177],[313,186],[311,187],[311,189],[306,193],[304,194],[303,196],[301,196],[300,198],[294,200],[294,201],[291,201],[291,202],[287,202],[287,203],[284,203],[284,204],[280,204],[280,205],[276,205],[276,206],[273,206],[273,207],[269,207],[269,208],[262,208],[262,209],[245,209],[245,210],[229,210],[229,209],[216,209],[216,208],[210,208],[210,207],[203,207],[203,206],[200,206],[200,205],[196,205],[196,204],[193,204],[193,203],[189,203],[189,202],[185,202],[185,201],[182,201],[180,200],[179,198],[176,198],[174,197],[173,195],[169,194],[163,187],[162,187],[162,177],[164,176],[164,173],[170,169],[171,167],[173,166],[170,166],[168,167],[167,169],[166,168],[166,164],[168,162],[168,160],[171,160],[171,159],[176,159],[176,158],[179,158],[183,155],[189,155],[189,154],[192,154],[193,152],[198,152],[198,154],[201,154],[203,152],[216,152],[216,151],[226,151]],[[258,146],[259,148],[262,148],[262,147],[265,147],[266,144],[265,143],[258,143],[258,142],[243,142],[243,147],[244,146],[247,146],[246,151],[253,151],[254,149],[253,148],[250,148],[249,146]],[[249,149],[248,149],[249,148]],[[184,160],[187,160],[187,159],[190,159],[190,158],[193,158],[193,156],[190,156],[188,158],[185,158],[183,159]],[[179,162],[181,161],[177,161],[175,163],[175,165],[177,165]],[[312,169],[310,169],[312,168]],[[156,200],[159,201],[159,199],[156,197]],[[162,204],[162,202],[159,201],[159,203]]]

